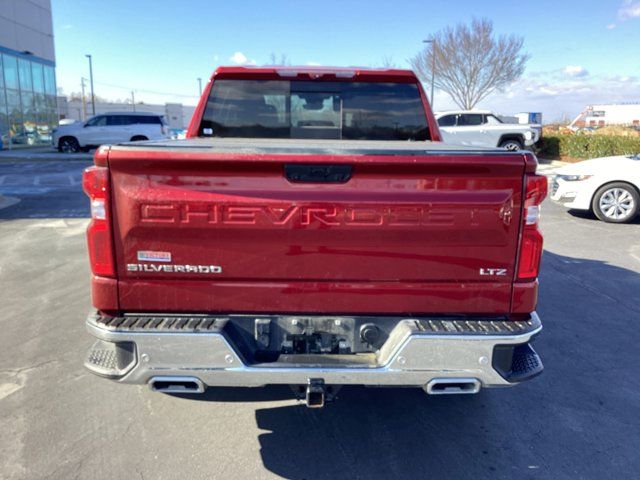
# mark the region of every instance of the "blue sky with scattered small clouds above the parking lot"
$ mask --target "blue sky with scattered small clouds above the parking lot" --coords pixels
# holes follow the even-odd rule
[[[218,65],[401,68],[430,33],[472,17],[524,37],[523,78],[482,102],[500,113],[572,116],[589,103],[640,102],[640,0],[242,1],[52,0],[58,87],[80,91],[94,59],[96,94],[197,101],[197,78]],[[436,109],[454,107],[444,92]]]

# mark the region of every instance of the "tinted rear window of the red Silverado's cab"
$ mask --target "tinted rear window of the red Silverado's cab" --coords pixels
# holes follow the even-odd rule
[[[201,136],[428,140],[417,85],[217,80]]]

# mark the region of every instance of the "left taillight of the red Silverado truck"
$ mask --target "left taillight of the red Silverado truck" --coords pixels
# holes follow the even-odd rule
[[[114,277],[109,170],[106,167],[86,168],[82,175],[82,188],[91,202],[91,223],[87,227],[91,271],[101,277]]]

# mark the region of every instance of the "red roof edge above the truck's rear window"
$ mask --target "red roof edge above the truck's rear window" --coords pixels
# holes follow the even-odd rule
[[[213,73],[213,78],[270,79],[270,80],[333,80],[364,82],[415,83],[418,78],[411,70],[396,68],[323,67],[323,66],[223,66]]]

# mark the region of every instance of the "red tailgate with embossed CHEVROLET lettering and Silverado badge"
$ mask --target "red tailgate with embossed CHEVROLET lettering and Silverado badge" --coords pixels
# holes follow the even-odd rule
[[[329,165],[345,166],[339,172],[348,180],[327,181]],[[126,311],[510,309],[521,154],[225,156],[115,147],[109,167]],[[300,176],[305,171],[312,176]]]

